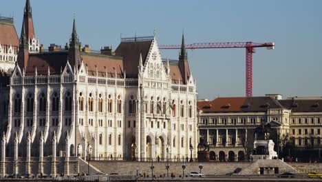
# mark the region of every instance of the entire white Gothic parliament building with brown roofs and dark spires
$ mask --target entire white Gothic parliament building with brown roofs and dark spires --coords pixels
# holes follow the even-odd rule
[[[12,20],[0,21],[2,156],[190,157],[198,141],[197,92],[183,35],[179,59],[169,61],[155,36],[91,51],[81,45],[75,19],[69,43],[45,51],[29,0],[19,40]]]

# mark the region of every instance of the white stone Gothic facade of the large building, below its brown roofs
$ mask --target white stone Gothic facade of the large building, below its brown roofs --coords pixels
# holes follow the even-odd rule
[[[151,41],[138,79],[94,77],[82,63],[62,65],[61,74],[25,76],[19,67],[10,78],[6,156],[85,156],[101,159],[186,159],[197,146],[196,87],[173,84],[169,62],[162,62]],[[64,68],[65,67],[65,68]],[[126,70],[125,70],[126,71]],[[131,107],[131,108],[130,108]],[[174,107],[174,109],[172,109]],[[17,145],[14,136],[17,134]],[[68,140],[65,140],[65,139]],[[68,141],[68,147],[66,142]],[[136,145],[136,148],[133,148]],[[193,150],[193,157],[197,154]]]

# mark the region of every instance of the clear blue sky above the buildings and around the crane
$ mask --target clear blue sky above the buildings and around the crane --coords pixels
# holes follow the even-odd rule
[[[41,43],[65,45],[72,19],[80,39],[92,49],[122,37],[152,35],[159,44],[219,41],[275,42],[275,50],[253,54],[253,94],[322,95],[322,1],[103,1],[31,0]],[[14,14],[20,35],[25,0],[2,0],[0,13]],[[163,50],[178,59],[178,50]],[[189,51],[199,98],[245,94],[245,50]]]

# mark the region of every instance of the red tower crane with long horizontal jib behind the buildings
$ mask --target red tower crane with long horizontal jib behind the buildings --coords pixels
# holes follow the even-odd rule
[[[180,49],[181,45],[159,45],[159,49]],[[275,48],[275,43],[254,42],[222,42],[222,43],[193,43],[185,45],[186,49],[222,49],[246,48],[246,97],[253,96],[253,53],[255,48]]]

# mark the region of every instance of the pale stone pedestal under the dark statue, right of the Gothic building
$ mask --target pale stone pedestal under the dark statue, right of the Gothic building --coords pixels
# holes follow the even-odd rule
[[[274,151],[275,143],[272,140],[255,140],[253,159],[275,159],[277,152]]]

